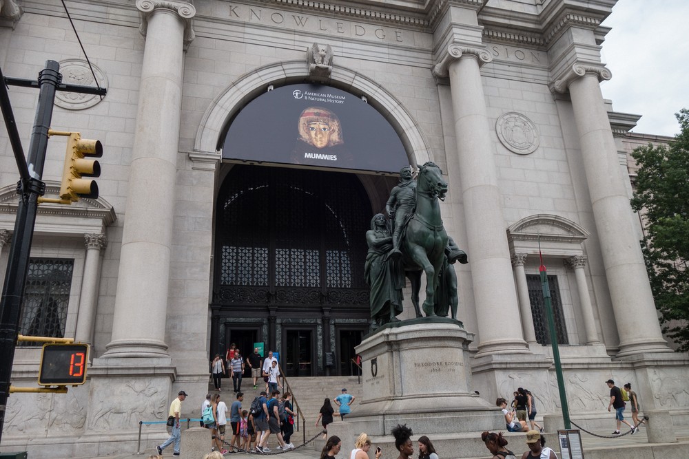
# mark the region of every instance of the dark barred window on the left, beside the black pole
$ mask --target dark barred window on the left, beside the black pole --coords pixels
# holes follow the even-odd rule
[[[32,257],[29,260],[21,308],[21,334],[65,337],[73,270],[73,259]],[[22,345],[36,343],[23,342]]]

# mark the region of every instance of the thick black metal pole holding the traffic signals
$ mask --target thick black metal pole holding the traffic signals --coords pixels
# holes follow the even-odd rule
[[[41,182],[41,175],[45,163],[45,151],[48,149],[48,128],[52,118],[55,90],[62,79],[59,70],[59,63],[47,61],[45,69],[39,73],[38,82],[41,90],[34,129],[31,132],[27,161],[31,178],[28,186],[22,186],[20,190],[17,220],[14,222],[10,257],[2,298],[0,299],[0,441],[5,424],[7,398],[10,394],[12,361],[14,360],[14,348],[17,346],[17,335],[19,334],[21,303],[29,267],[36,209],[39,195],[43,195],[45,189],[45,184]]]

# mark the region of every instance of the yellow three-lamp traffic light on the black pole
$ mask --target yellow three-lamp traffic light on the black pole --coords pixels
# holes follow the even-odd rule
[[[98,198],[98,184],[95,180],[82,177],[99,177],[101,164],[86,157],[101,158],[103,145],[99,140],[81,138],[79,132],[48,131],[49,136],[69,136],[65,167],[62,171],[60,198],[76,202],[79,198]]]

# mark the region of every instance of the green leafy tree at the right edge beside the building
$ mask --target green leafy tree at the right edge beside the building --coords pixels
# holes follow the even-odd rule
[[[676,115],[681,132],[670,142],[639,147],[632,207],[646,220],[642,249],[661,325],[689,350],[689,110]]]

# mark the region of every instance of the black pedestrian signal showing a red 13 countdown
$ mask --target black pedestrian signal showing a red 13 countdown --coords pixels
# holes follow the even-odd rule
[[[81,385],[87,362],[88,344],[44,344],[39,385]]]

